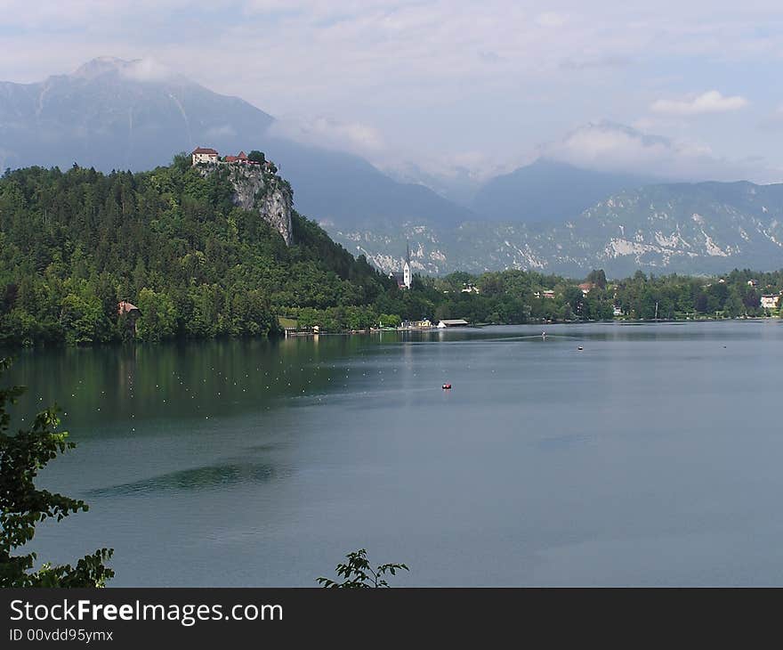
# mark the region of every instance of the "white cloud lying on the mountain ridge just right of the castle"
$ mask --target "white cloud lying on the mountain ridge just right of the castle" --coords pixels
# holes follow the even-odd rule
[[[363,156],[376,155],[385,147],[383,136],[373,126],[324,117],[281,118],[270,126],[270,135]]]

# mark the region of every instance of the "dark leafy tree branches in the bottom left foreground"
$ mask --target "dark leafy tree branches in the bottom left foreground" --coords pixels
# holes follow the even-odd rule
[[[0,359],[0,373],[9,365]],[[69,442],[65,431],[55,432],[60,424],[56,406],[38,413],[30,429],[7,433],[11,422],[7,407],[24,391],[22,386],[0,389],[0,587],[103,587],[114,577],[114,571],[104,564],[113,549],[99,548],[75,567],[45,563],[37,571],[36,553],[12,555],[33,539],[39,522],[61,521],[88,509],[82,500],[36,489],[38,472],[76,445]]]

